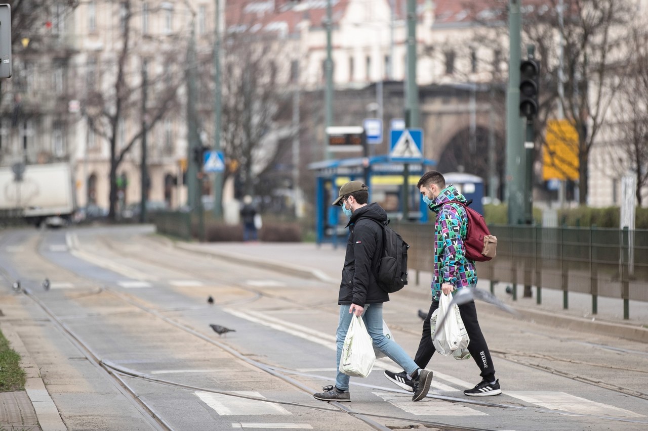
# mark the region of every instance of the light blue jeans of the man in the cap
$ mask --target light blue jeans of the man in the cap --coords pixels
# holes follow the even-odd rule
[[[344,338],[347,337],[351,318],[354,316],[349,313],[351,304],[340,305],[340,321],[338,322],[338,331],[336,341],[338,343],[337,367],[338,375],[335,378],[335,386],[341,390],[349,390],[349,376],[340,373],[340,357],[342,356],[342,347]],[[362,320],[367,327],[369,337],[373,340],[373,345],[380,349],[389,359],[399,364],[409,375],[419,369],[419,366],[408,356],[397,342],[385,337],[382,333],[382,304],[366,304]]]

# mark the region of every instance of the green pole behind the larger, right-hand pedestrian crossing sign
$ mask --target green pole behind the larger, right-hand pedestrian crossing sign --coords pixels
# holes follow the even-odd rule
[[[419,127],[419,87],[416,82],[416,0],[407,1],[407,80],[405,128]],[[410,218],[410,164],[403,164],[403,219]]]

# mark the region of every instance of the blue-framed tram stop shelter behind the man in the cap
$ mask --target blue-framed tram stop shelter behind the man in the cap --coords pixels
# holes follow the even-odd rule
[[[436,162],[404,164],[393,162],[387,155],[353,157],[350,159],[323,160],[308,165],[316,171],[315,230],[316,241],[344,244],[348,235],[345,226],[349,222],[339,206],[331,203],[338,196],[342,184],[360,180],[369,186],[369,202],[376,202],[387,212],[390,220],[428,221],[429,211],[422,204],[421,193],[416,188],[421,175],[435,166]],[[408,187],[404,187],[405,178]],[[408,214],[404,214],[407,199]]]

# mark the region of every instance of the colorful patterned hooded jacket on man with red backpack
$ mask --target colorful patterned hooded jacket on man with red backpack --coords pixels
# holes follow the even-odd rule
[[[439,300],[443,283],[450,283],[457,289],[477,284],[475,263],[464,255],[463,238],[466,238],[468,221],[466,212],[461,205],[448,201],[466,202],[466,198],[450,184],[430,204],[430,210],[437,213],[434,225],[433,301]]]

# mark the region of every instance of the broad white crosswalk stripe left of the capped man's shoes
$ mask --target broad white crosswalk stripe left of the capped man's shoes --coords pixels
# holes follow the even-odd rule
[[[254,391],[231,391],[237,395],[266,399],[259,392]],[[279,404],[267,403],[241,397],[230,397],[222,393],[194,392],[196,397],[207,404],[221,416],[225,415],[292,415]]]

